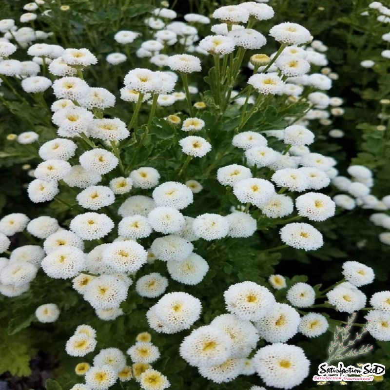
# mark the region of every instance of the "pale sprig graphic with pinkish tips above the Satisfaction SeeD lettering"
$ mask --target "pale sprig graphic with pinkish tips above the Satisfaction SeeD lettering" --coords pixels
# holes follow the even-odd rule
[[[360,340],[362,338],[362,334],[367,331],[368,327],[370,326],[370,320],[362,328],[362,331],[360,333],[356,332],[356,336],[353,340],[348,340],[351,336],[351,328],[355,316],[356,313],[352,313],[351,317],[348,318],[348,322],[345,327],[336,326],[336,331],[333,333],[333,341],[329,346],[329,358],[327,360],[328,364],[331,362],[331,360],[342,360],[346,357],[357,356],[362,353],[366,353],[372,349],[372,345],[369,344],[367,344],[367,346],[362,345],[359,350],[353,348],[355,342]]]

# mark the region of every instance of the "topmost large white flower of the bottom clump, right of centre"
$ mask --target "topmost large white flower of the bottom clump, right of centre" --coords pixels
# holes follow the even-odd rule
[[[262,318],[275,304],[275,298],[267,288],[250,281],[231,285],[223,296],[229,312],[251,321]]]

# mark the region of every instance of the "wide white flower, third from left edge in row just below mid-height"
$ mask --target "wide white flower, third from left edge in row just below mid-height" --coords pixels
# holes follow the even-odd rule
[[[105,214],[84,213],[71,220],[69,229],[83,240],[96,240],[109,234],[114,222]]]

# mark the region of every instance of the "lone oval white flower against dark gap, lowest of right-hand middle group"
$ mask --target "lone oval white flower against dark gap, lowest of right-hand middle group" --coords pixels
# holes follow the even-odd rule
[[[312,251],[323,245],[322,234],[307,223],[289,223],[279,231],[281,240],[295,249]]]

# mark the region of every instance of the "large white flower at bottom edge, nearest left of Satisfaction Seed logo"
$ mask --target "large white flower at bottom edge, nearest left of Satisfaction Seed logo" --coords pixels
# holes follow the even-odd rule
[[[309,375],[310,361],[295,345],[267,345],[256,352],[253,361],[265,384],[278,389],[292,389]]]

